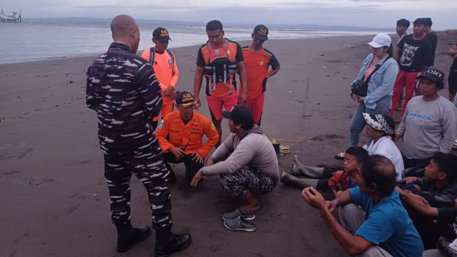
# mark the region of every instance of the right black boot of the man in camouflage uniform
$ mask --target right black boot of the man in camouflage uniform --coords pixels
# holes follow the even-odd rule
[[[189,233],[173,234],[170,229],[156,230],[155,257],[167,257],[175,252],[181,252],[190,245],[192,237]]]

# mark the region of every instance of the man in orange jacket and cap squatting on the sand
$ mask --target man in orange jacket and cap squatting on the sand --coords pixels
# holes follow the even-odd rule
[[[219,135],[209,118],[194,112],[194,96],[188,91],[177,93],[177,111],[168,113],[155,136],[164,151],[166,166],[171,172],[170,181],[175,181],[171,163],[186,165],[186,179],[190,182],[203,167],[203,160],[219,140]],[[208,141],[203,144],[203,135]]]

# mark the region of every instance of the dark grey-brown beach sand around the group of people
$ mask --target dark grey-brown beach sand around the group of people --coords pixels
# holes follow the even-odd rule
[[[445,52],[457,32],[438,37],[436,67],[448,74],[452,59]],[[265,43],[281,70],[267,84],[263,129],[270,138],[300,141],[288,142],[291,153],[278,156],[281,170],[290,169],[293,155],[309,165],[342,164],[333,156],[348,145],[356,107],[349,85],[370,52],[364,44],[371,38]],[[173,51],[181,74],[177,89],[193,92],[197,47]],[[85,71],[94,58],[0,65],[0,256],[153,254],[154,234],[125,254],[115,252],[96,113],[85,106]],[[200,111],[209,115],[203,93]],[[447,91],[441,93],[447,97]],[[226,121],[223,130],[225,137]],[[171,187],[173,231],[192,233],[192,245],[173,256],[346,256],[300,190],[280,183],[260,197],[258,230],[232,232],[221,215],[238,203],[227,197],[218,177],[191,188],[183,165],[173,167],[178,179]],[[151,224],[142,183],[133,178],[131,187],[133,225]]]

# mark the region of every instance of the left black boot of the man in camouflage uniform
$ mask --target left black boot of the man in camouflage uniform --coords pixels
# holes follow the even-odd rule
[[[151,234],[151,228],[147,225],[136,228],[132,227],[130,221],[116,225],[116,230],[118,230],[118,247],[116,247],[118,252],[126,252],[133,245],[148,238],[149,234]]]

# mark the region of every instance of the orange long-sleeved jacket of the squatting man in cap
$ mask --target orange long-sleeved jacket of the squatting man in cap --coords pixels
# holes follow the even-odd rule
[[[208,137],[206,144],[203,144],[203,135]],[[210,150],[219,140],[214,124],[209,118],[194,111],[192,119],[188,124],[181,120],[179,111],[168,113],[164,118],[164,124],[155,131],[155,136],[159,139],[159,144],[164,153],[170,152],[173,146],[185,148],[186,155],[199,152],[206,157]]]

